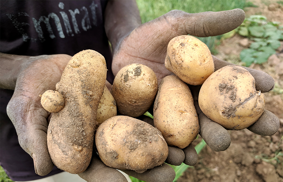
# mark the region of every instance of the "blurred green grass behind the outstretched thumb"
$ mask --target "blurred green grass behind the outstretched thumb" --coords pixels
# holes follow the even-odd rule
[[[244,9],[254,6],[247,0],[136,0],[139,7],[141,21],[151,21],[167,12],[178,9],[187,13],[200,13],[205,11],[225,11],[235,8]],[[217,53],[215,44],[221,36],[198,37],[210,49],[212,54]]]

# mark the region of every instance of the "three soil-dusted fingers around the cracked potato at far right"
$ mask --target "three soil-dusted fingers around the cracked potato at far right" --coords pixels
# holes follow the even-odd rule
[[[213,61],[215,64],[215,70],[218,70],[226,65],[231,65],[231,63],[222,61],[214,56]],[[244,68],[248,70],[254,77],[256,90],[261,90],[261,92],[269,92],[274,88],[274,80],[270,75],[259,70],[254,70],[247,67]],[[201,85],[190,85],[190,90],[194,98],[195,108],[197,110],[200,123],[200,135],[212,150],[226,150],[231,143],[230,135],[225,128],[207,118],[200,110],[200,107],[198,105],[198,93],[200,87]],[[256,121],[256,123],[254,123],[247,129],[258,135],[269,136],[274,135],[278,131],[279,124],[279,119],[272,112],[264,110],[263,114]]]

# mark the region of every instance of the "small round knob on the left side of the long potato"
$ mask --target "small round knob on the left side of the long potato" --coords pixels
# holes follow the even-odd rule
[[[64,97],[55,90],[47,90],[41,96],[41,105],[48,112],[59,112],[64,108]]]

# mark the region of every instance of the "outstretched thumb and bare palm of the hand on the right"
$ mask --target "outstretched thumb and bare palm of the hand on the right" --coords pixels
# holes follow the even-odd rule
[[[197,37],[221,35],[237,28],[244,19],[241,9],[196,14],[170,11],[140,25],[121,41],[113,54],[113,74],[128,64],[140,63],[150,67],[160,81],[171,74],[164,61],[172,38],[187,34]]]

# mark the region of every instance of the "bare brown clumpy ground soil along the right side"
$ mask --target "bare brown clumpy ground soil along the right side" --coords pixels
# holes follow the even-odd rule
[[[258,7],[245,9],[246,17],[261,14],[268,21],[279,21],[283,24],[283,6],[277,0],[254,0]],[[216,47],[215,56],[240,64],[239,55],[247,48],[251,41],[245,37],[235,35],[223,40]],[[268,62],[250,66],[271,75],[275,83],[283,88],[283,43],[277,54],[269,57]],[[265,109],[273,112],[280,120],[279,131],[273,136],[259,136],[244,129],[229,131],[231,135],[230,147],[221,152],[215,152],[208,146],[200,152],[197,164],[188,168],[178,182],[283,182],[283,95],[274,91],[264,93],[266,96]],[[201,139],[195,140],[196,145]]]

